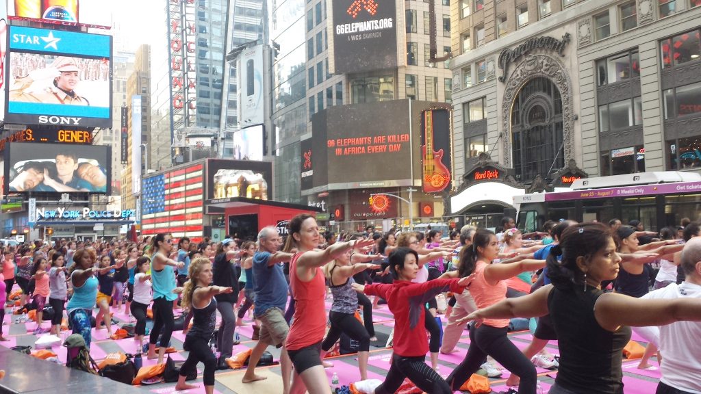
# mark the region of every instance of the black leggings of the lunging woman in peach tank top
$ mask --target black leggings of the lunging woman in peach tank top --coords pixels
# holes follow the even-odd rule
[[[491,355],[509,372],[521,378],[519,394],[536,394],[536,367],[512,344],[506,336],[507,330],[508,327],[496,328],[485,324],[477,328],[470,327],[468,355],[448,376],[448,381],[455,390],[477,372],[479,366],[486,361],[487,355]]]

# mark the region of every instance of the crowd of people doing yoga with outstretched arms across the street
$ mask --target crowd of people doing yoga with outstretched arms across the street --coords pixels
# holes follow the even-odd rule
[[[165,233],[136,243],[36,242],[3,248],[0,301],[16,283],[21,304],[37,310],[35,334],[60,332],[65,311],[88,346],[95,308],[97,328],[104,322],[110,335],[110,308],[124,308],[136,320],[139,348],[151,306],[147,357],[159,363],[179,304],[189,353],[178,390],[195,387],[185,379],[203,362],[205,391],[213,392],[215,370],[228,368],[236,327],[250,308],[258,338],[243,383],[266,379],[256,368],[272,345],[280,347],[283,393],[328,393],[324,368],[332,364],[325,355],[341,334],[358,341],[365,380],[369,344],[376,340],[372,311],[386,304],[395,319],[392,364],[374,393],[395,393],[405,378],[426,393],[453,393],[479,369],[501,375],[496,361],[511,373],[509,393],[535,394],[536,367],[545,367],[558,369],[550,393],[620,394],[622,349],[632,330],[649,342],[638,367],[651,367],[657,355],[657,393],[701,393],[701,346],[694,340],[701,334],[701,224],[682,225],[658,233],[637,221],[561,220],[524,234],[505,217],[498,233],[472,226],[445,236],[436,230],[380,233],[369,226],[336,236],[320,233],[313,216],[297,215],[284,245],[273,226],[256,240],[216,244]],[[437,301],[442,298],[449,299],[446,305]],[[55,313],[45,326],[47,303]],[[217,313],[219,358],[209,346]],[[442,334],[435,319],[440,313],[447,319]],[[537,318],[524,350],[507,335],[519,318]],[[444,378],[438,355],[455,352],[465,328],[467,354]],[[545,348],[552,340],[559,358]]]

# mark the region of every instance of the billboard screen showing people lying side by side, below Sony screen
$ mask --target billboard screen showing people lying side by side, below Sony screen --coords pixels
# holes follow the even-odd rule
[[[107,193],[110,147],[13,142],[6,149],[5,189],[9,193]]]

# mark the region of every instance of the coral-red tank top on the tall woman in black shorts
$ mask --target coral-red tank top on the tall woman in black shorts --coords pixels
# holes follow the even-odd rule
[[[297,277],[297,260],[304,253],[297,253],[290,261],[290,287],[297,301],[294,321],[287,334],[287,350],[297,351],[324,339],[326,334],[325,294],[326,281],[319,267],[309,282]]]

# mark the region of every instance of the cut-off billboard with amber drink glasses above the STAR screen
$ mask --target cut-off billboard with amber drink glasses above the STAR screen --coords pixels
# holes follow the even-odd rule
[[[10,0],[8,3],[8,15],[12,18],[41,19],[60,25],[112,25],[111,14],[104,12],[102,0]]]

